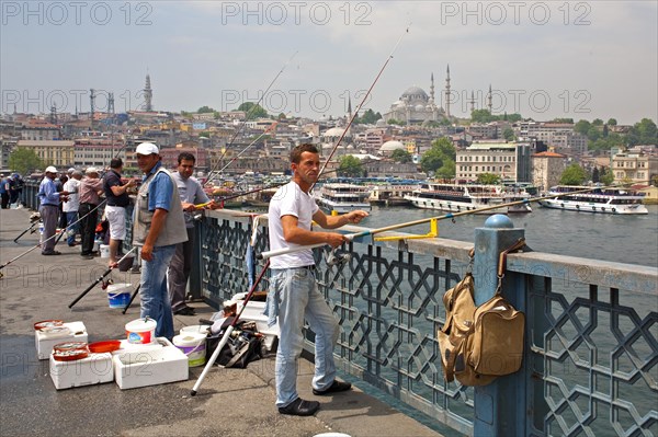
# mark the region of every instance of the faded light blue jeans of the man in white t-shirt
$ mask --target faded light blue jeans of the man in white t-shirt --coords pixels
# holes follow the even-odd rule
[[[304,319],[315,332],[315,375],[311,386],[325,390],[336,378],[333,346],[338,322],[318,291],[315,273],[306,268],[272,269],[270,292],[279,300],[279,348],[276,350],[276,406],[286,406],[297,394],[298,359],[304,347]]]

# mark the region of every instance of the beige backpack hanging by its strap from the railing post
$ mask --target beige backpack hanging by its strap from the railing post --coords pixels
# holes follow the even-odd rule
[[[481,306],[475,307],[470,272],[443,296],[445,324],[438,338],[446,381],[456,378],[463,386],[486,386],[521,367],[525,315],[500,292],[506,256],[524,244],[521,239],[500,254],[498,288]]]

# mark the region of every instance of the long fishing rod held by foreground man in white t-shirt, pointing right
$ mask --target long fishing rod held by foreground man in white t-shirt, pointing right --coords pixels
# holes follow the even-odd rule
[[[476,209],[466,210],[466,211],[449,212],[443,216],[428,217],[428,218],[423,218],[423,219],[406,221],[404,223],[390,225],[390,226],[386,226],[383,228],[370,229],[370,230],[365,230],[365,231],[361,231],[361,232],[350,233],[350,234],[345,234],[344,237],[345,237],[345,240],[348,240],[349,242],[352,242],[355,239],[360,239],[363,237],[374,235],[374,234],[387,232],[387,231],[394,231],[397,229],[408,228],[411,226],[423,225],[423,223],[428,223],[432,220],[454,219],[456,217],[470,216],[474,214],[490,211],[492,209],[509,208],[510,206],[517,206],[517,205],[527,205],[533,202],[547,200],[547,199],[557,198],[557,197],[570,196],[574,194],[589,193],[594,189],[625,187],[626,185],[628,185],[628,184],[594,186],[594,187],[578,189],[578,191],[568,192],[568,193],[561,193],[561,194],[558,193],[558,194],[552,194],[552,195],[546,195],[546,196],[531,197],[531,198],[526,198],[526,199],[522,199],[522,200],[508,202],[508,203],[503,203],[503,204],[486,206],[486,207],[476,208]],[[307,250],[307,249],[322,248],[327,243],[316,243],[316,244],[309,244],[309,245],[297,246],[297,248],[282,248],[282,249],[277,249],[277,250],[273,250],[273,251],[262,252],[262,253],[258,254],[256,257],[258,260],[269,260],[272,256],[284,255],[287,253],[298,252],[298,251],[303,251],[303,250]]]

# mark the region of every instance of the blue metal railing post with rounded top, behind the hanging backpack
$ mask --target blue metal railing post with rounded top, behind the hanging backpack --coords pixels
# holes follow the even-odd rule
[[[475,304],[489,300],[498,286],[498,257],[525,234],[524,229],[514,229],[512,221],[503,215],[487,219],[484,228],[475,230]],[[502,296],[518,310],[525,312],[525,287],[521,278],[506,275]],[[526,371],[521,370],[499,377],[489,386],[475,388],[474,435],[523,436],[526,421]]]

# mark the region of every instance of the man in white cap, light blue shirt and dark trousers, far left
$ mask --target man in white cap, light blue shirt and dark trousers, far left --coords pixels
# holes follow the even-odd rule
[[[44,234],[42,244],[42,255],[59,255],[60,253],[55,250],[55,231],[57,230],[57,215],[59,214],[59,200],[66,200],[68,192],[57,192],[57,185],[55,185],[55,177],[57,176],[57,169],[53,165],[46,168],[44,172],[44,179],[38,185],[38,212],[42,221],[44,222]]]

